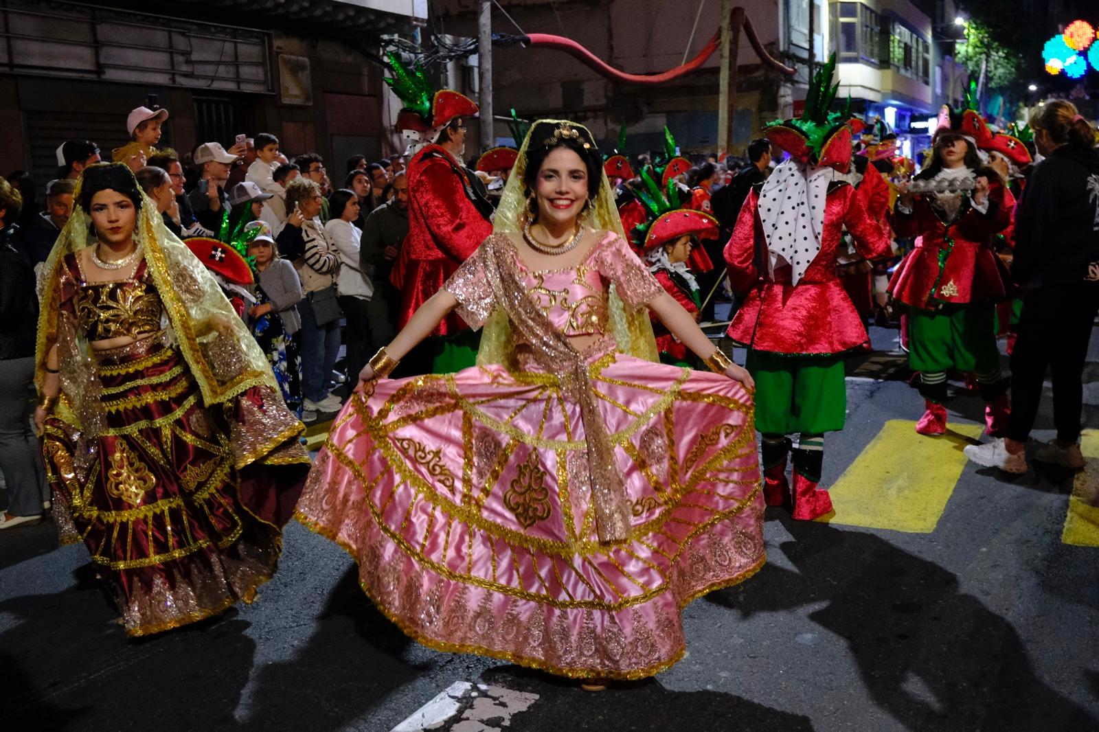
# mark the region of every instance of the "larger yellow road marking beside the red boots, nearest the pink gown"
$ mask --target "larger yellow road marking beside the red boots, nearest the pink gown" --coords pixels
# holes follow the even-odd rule
[[[887,421],[829,489],[835,512],[817,520],[931,533],[968,463],[962,448],[984,429],[954,422],[945,435],[925,437],[915,422]]]

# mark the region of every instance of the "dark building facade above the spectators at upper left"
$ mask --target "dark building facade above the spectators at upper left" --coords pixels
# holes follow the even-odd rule
[[[269,5],[181,1],[153,14],[125,0],[4,2],[0,175],[32,170],[41,189],[67,138],[91,140],[110,159],[127,141],[129,111],[154,103],[170,113],[160,146],[182,155],[257,132],[290,155],[321,153],[340,174],[351,154],[392,152],[377,48],[382,34],[414,34],[426,0]]]

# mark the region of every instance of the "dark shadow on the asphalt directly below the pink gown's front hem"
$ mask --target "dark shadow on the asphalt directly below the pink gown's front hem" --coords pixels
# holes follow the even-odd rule
[[[801,732],[813,729],[806,717],[721,691],[669,691],[654,678],[611,681],[606,691],[592,692],[585,691],[579,681],[571,679],[522,666],[497,666],[486,670],[481,680],[541,697],[530,711],[519,712],[511,719],[511,729],[523,732]],[[640,699],[644,699],[644,703],[639,703]]]

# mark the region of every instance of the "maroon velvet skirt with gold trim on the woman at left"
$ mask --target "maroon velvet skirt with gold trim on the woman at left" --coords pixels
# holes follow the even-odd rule
[[[301,423],[267,387],[206,407],[162,339],[95,355],[104,429],[51,417],[43,436],[63,541],[84,541],[132,636],[252,602],[309,470]]]

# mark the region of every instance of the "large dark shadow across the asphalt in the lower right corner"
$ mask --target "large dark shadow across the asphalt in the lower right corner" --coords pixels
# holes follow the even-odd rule
[[[782,518],[797,540],[752,581],[707,596],[748,615],[810,603],[845,639],[875,703],[909,730],[1094,730],[1099,720],[1040,680],[1018,633],[957,577],[869,533]]]

